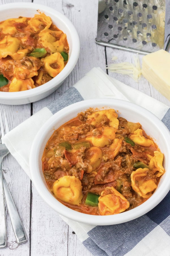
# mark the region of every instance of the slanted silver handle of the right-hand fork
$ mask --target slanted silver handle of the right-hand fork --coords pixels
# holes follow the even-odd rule
[[[27,242],[27,236],[25,234],[23,224],[21,222],[20,216],[18,214],[18,211],[16,209],[15,203],[12,199],[12,196],[10,194],[10,191],[8,189],[8,185],[4,176],[3,176],[3,188],[4,188],[5,199],[7,202],[8,212],[9,212],[10,220],[12,223],[12,228],[16,237],[16,241],[18,244],[25,243]]]

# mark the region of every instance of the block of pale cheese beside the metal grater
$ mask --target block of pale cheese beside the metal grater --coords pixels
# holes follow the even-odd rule
[[[170,100],[170,53],[163,49],[142,59],[142,74],[163,96]]]

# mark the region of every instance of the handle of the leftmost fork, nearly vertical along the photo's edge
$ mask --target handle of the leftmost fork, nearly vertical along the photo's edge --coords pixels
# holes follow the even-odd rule
[[[3,179],[2,179],[2,158],[0,158],[0,249],[7,247],[7,227],[5,217]]]

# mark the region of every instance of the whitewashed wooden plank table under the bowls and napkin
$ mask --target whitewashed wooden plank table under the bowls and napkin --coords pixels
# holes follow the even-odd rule
[[[0,4],[11,2],[21,2],[21,0],[0,0]],[[135,53],[105,48],[95,43],[98,0],[33,0],[32,2],[52,7],[65,14],[73,22],[80,36],[80,57],[69,77],[56,92],[47,98],[26,105],[0,104],[1,110],[5,108],[8,120],[11,121],[10,129],[57,99],[93,67],[101,67],[106,71],[106,64],[113,63],[113,56],[118,57],[116,62],[128,61],[133,63],[133,56],[135,55]],[[142,57],[143,55],[139,55],[140,60]],[[109,75],[170,106],[169,100],[156,91],[145,78],[142,77],[139,82],[135,82],[127,75],[116,73],[109,73]],[[8,212],[6,212],[8,241],[7,248],[0,249],[0,256],[92,256],[78,240],[74,230],[42,201],[29,177],[10,154],[3,161],[3,171],[24,224],[28,242],[18,246]]]

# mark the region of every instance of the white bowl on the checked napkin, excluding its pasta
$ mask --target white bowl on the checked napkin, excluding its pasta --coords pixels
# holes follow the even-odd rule
[[[42,173],[42,154],[45,145],[58,127],[60,127],[65,122],[69,121],[79,112],[85,111],[88,108],[114,108],[118,110],[118,115],[124,117],[131,122],[141,123],[145,132],[150,135],[154,141],[159,146],[161,152],[164,154],[164,168],[165,173],[160,179],[158,187],[153,195],[145,201],[142,205],[138,207],[122,212],[119,214],[109,215],[109,216],[96,216],[77,212],[65,205],[61,204],[50,192],[46,181]],[[137,106],[133,103],[126,102],[123,100],[113,100],[113,99],[92,99],[84,100],[75,104],[72,104],[56,114],[54,114],[39,130],[31,148],[31,154],[29,159],[29,166],[31,171],[31,177],[35,188],[37,189],[39,195],[42,199],[56,212],[59,214],[87,224],[92,225],[110,225],[118,224],[122,222],[127,222],[133,220],[146,212],[154,208],[170,189],[170,133],[167,127],[156,117],[154,114]]]

